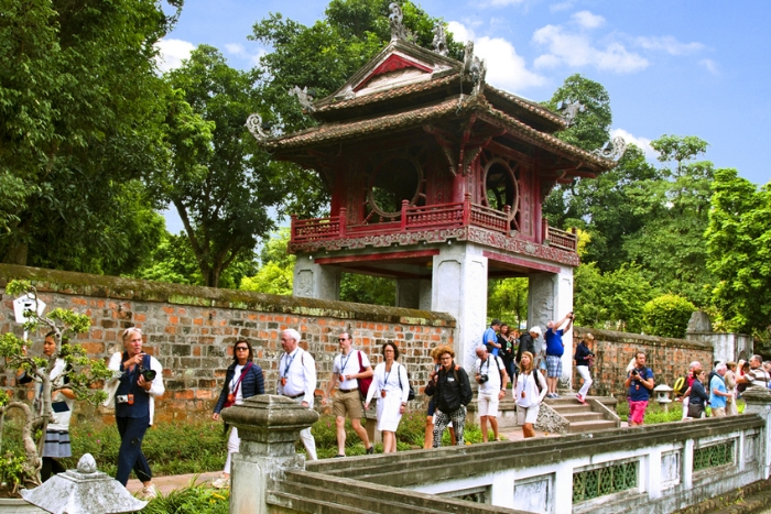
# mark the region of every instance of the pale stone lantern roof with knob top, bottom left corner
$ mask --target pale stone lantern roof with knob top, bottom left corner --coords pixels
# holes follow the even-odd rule
[[[90,453],[80,457],[76,470],[55,474],[35,489],[23,489],[21,495],[53,514],[137,512],[148,504],[133,497],[112,477],[97,471]]]

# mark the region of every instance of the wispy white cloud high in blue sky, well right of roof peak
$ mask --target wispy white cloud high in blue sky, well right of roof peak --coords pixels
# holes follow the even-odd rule
[[[629,52],[622,44],[611,42],[604,50],[593,45],[585,34],[567,33],[562,26],[546,25],[533,34],[533,41],[547,48],[547,54],[535,59],[536,67],[565,64],[573,67],[594,66],[615,73],[639,72],[648,67],[648,59]]]

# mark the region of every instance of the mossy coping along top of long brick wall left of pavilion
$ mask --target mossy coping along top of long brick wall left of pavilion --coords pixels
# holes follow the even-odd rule
[[[11,280],[28,280],[41,293],[59,293],[119,300],[138,300],[281,313],[297,316],[333,317],[358,321],[379,321],[434,327],[455,327],[455,318],[445,313],[354,304],[294,296],[269,295],[250,291],[224,289],[163,282],[94,275],[42,267],[0,264],[0,287]]]

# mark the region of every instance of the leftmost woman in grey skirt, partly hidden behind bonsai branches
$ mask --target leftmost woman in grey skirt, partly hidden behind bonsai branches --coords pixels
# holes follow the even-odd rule
[[[67,341],[62,339],[62,347],[64,348],[66,345]],[[25,347],[22,347],[22,353],[26,356]],[[52,331],[46,333],[43,340],[43,354],[51,360],[54,353],[56,353],[56,333]],[[69,442],[69,418],[72,417],[73,406],[75,405],[75,393],[70,389],[58,389],[69,382],[69,378],[66,374],[67,371],[69,371],[68,364],[62,357],[56,356],[54,367],[48,374],[52,385],[52,419],[48,420],[48,426],[45,429],[45,441],[43,444],[43,452],[41,453],[43,466],[40,470],[40,478],[43,482],[48,480],[53,474],[66,471],[67,468],[65,468],[58,459],[73,456],[72,445]],[[41,381],[39,376],[30,375],[23,370],[17,375],[17,379],[19,379],[20,384],[33,381],[39,383]],[[42,385],[36,385],[33,408],[39,414],[43,414],[42,393]]]

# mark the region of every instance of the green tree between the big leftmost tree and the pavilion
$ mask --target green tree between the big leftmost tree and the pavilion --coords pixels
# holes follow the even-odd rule
[[[258,239],[274,227],[268,209],[281,204],[289,184],[245,127],[260,109],[253,73],[231,68],[216,48],[200,45],[166,79],[184,94],[184,102],[172,103],[175,113],[186,102],[195,114],[188,119],[205,123],[171,117],[174,157],[156,176],[156,190],[180,214],[204,284],[217,287],[224,271],[251,259]]]

